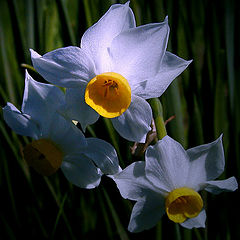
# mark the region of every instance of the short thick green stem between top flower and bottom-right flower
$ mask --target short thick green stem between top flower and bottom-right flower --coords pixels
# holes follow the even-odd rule
[[[167,135],[167,131],[163,120],[162,104],[158,98],[150,99],[149,103],[153,111],[153,119],[156,126],[157,137],[158,140],[161,140],[163,137]]]

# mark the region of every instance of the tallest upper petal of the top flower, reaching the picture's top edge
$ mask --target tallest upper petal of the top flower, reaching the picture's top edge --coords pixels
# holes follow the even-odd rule
[[[94,61],[97,74],[110,71],[108,47],[118,34],[135,27],[135,19],[129,2],[114,4],[103,17],[91,26],[83,35],[83,48]]]

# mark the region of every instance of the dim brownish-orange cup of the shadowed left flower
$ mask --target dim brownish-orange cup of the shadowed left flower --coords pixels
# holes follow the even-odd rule
[[[50,176],[62,164],[62,151],[49,139],[39,139],[31,142],[23,149],[27,164],[38,173]]]

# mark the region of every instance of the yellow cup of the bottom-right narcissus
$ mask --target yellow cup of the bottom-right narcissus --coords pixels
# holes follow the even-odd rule
[[[177,188],[170,192],[165,202],[168,218],[175,223],[182,223],[187,218],[196,217],[203,207],[199,193],[191,188]]]

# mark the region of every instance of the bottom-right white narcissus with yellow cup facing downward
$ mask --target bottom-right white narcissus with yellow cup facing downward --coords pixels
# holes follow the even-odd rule
[[[187,151],[169,136],[149,146],[145,162],[135,162],[113,177],[121,195],[137,201],[129,231],[153,227],[165,212],[183,227],[205,227],[206,213],[198,192],[218,194],[238,187],[234,177],[213,181],[224,165],[222,137]]]

